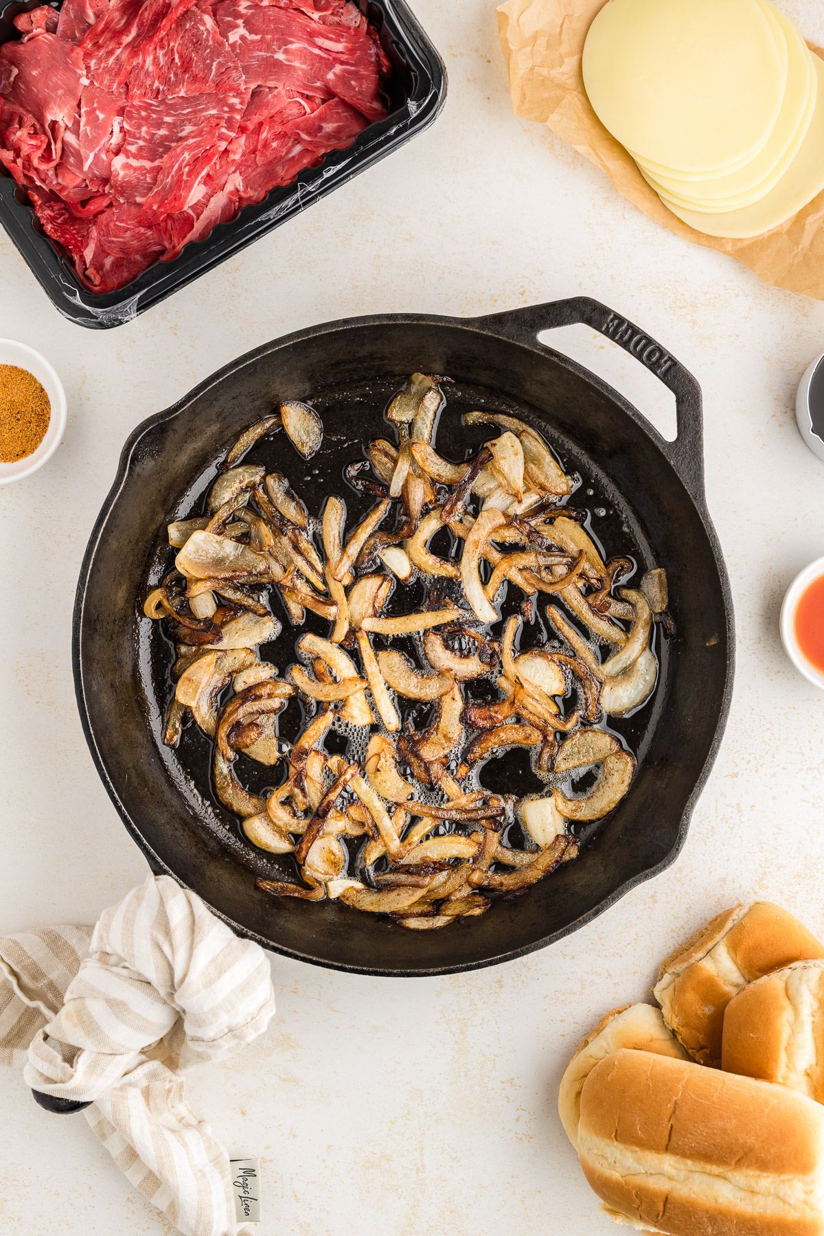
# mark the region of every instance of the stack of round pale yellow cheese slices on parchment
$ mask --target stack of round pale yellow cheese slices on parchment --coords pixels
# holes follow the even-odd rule
[[[759,236],[824,189],[824,62],[771,0],[608,0],[583,79],[602,124],[698,231]]]

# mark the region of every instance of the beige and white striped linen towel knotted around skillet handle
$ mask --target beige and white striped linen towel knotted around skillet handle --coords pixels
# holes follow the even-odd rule
[[[263,949],[169,876],[94,931],[0,937],[0,1062],[44,1094],[93,1100],[83,1114],[117,1167],[187,1236],[253,1229],[235,1222],[229,1156],[179,1070],[251,1042],[273,1014]]]

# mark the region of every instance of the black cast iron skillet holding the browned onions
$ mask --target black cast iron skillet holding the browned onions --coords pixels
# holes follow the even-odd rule
[[[572,323],[614,339],[675,392],[675,441],[537,341],[540,331]],[[271,871],[272,857],[242,840],[236,821],[220,815],[158,740],[153,624],[140,617],[147,580],[168,554],[167,519],[193,508],[242,429],[273,402],[311,398],[327,431],[338,417],[356,438],[372,436],[369,417],[415,370],[456,379],[452,408],[497,408],[540,424],[593,489],[587,503],[612,513],[599,528],[607,551],[619,552],[629,538],[641,569],[666,567],[677,623],[677,635],[660,643],[654,702],[628,723],[639,772],[626,798],[576,861],[483,917],[439,932],[405,932],[338,902],[273,900],[254,889],[254,873]],[[324,477],[308,472],[304,482],[320,499]],[[343,970],[415,975],[490,965],[550,944],[672,863],[726,719],[733,640],[729,585],[704,503],[699,387],[649,335],[577,298],[472,320],[393,314],[313,326],[250,352],[151,417],[126,442],[91,533],[73,662],[95,765],[154,871],[172,874],[237,932],[277,952]]]

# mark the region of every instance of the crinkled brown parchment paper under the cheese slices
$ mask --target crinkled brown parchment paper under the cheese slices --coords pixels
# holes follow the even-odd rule
[[[639,210],[676,236],[729,253],[766,283],[824,300],[824,193],[762,236],[751,240],[704,236],[667,210],[633,158],[607,132],[589,106],[581,74],[584,38],[603,4],[604,0],[507,0],[498,9],[515,114],[547,125],[602,168]]]

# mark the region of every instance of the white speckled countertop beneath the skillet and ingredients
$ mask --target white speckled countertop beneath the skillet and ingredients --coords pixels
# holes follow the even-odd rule
[[[793,418],[824,305],[656,227],[514,120],[492,2],[413,7],[450,74],[435,126],[131,325],[64,321],[0,232],[0,335],[46,351],[69,399],[53,461],[0,489],[0,931],[91,922],[146,874],[93,769],[69,659],[80,559],[131,429],[311,323],[603,300],[703,387],[707,494],[735,598],[730,722],[681,858],[552,949],[490,970],[387,981],[273,957],[269,1033],[194,1073],[189,1094],[231,1151],[263,1158],[261,1236],[607,1236],[555,1112],[577,1041],[642,999],[660,958],[738,899],[783,901],[824,929],[824,695],[784,659],[777,628],[789,580],[824,552],[824,465]],[[812,0],[791,7],[814,37]],[[574,328],[557,346],[671,415],[614,345]],[[84,1121],[47,1116],[4,1069],[0,1112],[2,1236],[170,1230]]]

